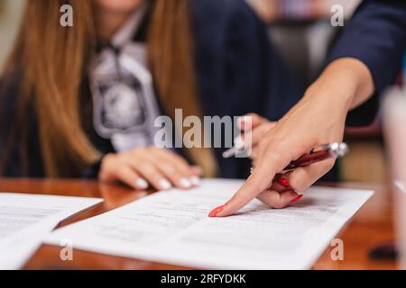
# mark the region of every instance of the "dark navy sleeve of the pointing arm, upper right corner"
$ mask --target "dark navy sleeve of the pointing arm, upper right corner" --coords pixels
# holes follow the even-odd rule
[[[406,51],[406,1],[364,0],[346,24],[329,61],[357,58],[374,77],[377,93],[392,85]]]

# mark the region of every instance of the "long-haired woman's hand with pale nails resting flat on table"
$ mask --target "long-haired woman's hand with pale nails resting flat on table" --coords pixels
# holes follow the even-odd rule
[[[136,190],[189,189],[199,184],[201,169],[164,148],[134,148],[103,157],[98,178],[119,181]]]

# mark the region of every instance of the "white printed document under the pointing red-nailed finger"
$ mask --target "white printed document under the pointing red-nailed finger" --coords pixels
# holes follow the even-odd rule
[[[311,188],[274,210],[254,200],[238,215],[208,218],[242,184],[206,180],[191,191],[155,193],[57,229],[46,242],[208,269],[307,269],[372,191]]]

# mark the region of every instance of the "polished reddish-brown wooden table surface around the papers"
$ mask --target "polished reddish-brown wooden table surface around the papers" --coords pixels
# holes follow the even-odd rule
[[[337,235],[344,242],[344,260],[331,259],[334,247],[327,247],[313,269],[395,269],[394,261],[374,261],[369,251],[377,245],[392,242],[392,193],[382,184],[324,184],[328,186],[374,189],[374,196],[355,214]],[[101,184],[81,180],[32,180],[0,178],[0,191],[9,193],[42,193],[68,196],[102,197],[105,202],[82,211],[60,223],[59,227],[87,219],[123,206],[147,195],[119,184]],[[42,245],[25,265],[25,269],[190,269],[137,259],[106,256],[75,249],[73,261],[60,260],[60,247]]]

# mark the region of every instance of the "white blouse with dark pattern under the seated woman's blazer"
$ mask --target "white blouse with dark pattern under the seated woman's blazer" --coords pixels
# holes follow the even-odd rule
[[[153,145],[153,122],[160,115],[145,44],[134,42],[147,4],[137,9],[115,33],[111,47],[97,55],[89,72],[97,133],[115,151]]]

